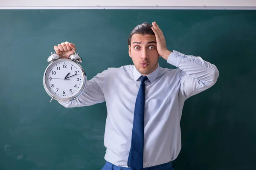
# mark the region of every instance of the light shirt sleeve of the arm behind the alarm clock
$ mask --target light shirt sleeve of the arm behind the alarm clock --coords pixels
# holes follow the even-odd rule
[[[74,108],[82,106],[90,106],[97,103],[105,102],[103,88],[108,77],[110,69],[97,74],[95,77],[87,81],[87,84],[82,92],[81,96],[76,100],[69,102],[60,102],[65,108]]]

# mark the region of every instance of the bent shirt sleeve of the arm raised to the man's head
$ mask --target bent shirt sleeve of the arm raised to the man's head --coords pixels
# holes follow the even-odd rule
[[[185,55],[174,50],[167,62],[180,68],[179,96],[183,99],[212,87],[219,76],[216,66],[201,57]]]

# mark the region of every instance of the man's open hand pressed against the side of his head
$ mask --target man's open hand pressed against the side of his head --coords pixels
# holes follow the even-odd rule
[[[158,54],[167,60],[172,52],[167,49],[166,40],[163,36],[163,32],[161,31],[157,23],[153,22],[152,25],[153,26],[151,27],[151,29],[154,31],[154,34],[156,36]]]

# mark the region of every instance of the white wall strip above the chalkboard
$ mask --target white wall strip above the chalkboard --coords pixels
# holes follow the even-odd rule
[[[157,7],[156,7],[157,6]],[[0,0],[0,9],[256,9],[256,0]]]

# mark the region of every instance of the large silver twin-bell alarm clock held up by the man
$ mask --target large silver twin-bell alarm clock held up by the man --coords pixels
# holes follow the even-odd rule
[[[72,48],[75,54],[68,58],[61,58],[59,54],[51,53],[47,62],[50,63],[44,71],[44,89],[53,99],[60,102],[76,100],[86,86],[86,74],[82,66],[79,53]]]

